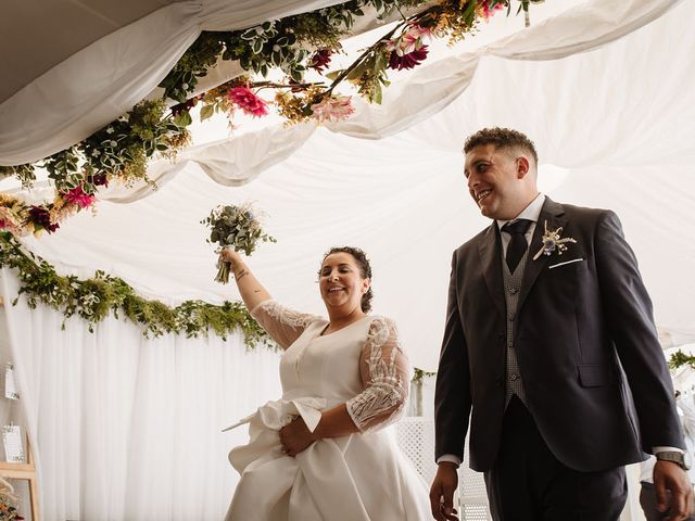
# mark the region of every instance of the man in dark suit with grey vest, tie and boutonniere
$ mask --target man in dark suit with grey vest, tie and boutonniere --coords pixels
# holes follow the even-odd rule
[[[656,454],[668,518],[693,509],[652,303],[616,214],[539,193],[522,134],[464,147],[489,228],[454,252],[435,392],[434,519],[457,519],[456,468],[484,472],[495,520],[617,520],[623,466]],[[598,188],[597,188],[598,189]]]

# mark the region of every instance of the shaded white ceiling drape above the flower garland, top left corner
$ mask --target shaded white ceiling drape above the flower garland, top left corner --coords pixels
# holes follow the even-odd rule
[[[340,2],[186,0],[159,9],[73,54],[0,104],[0,165],[51,155],[129,111],[202,30],[242,29],[334,3]]]

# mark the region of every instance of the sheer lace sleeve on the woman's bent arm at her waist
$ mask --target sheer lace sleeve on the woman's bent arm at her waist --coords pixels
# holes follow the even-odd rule
[[[359,369],[365,390],[348,401],[348,414],[363,432],[393,423],[405,407],[410,382],[410,365],[393,321],[372,320]]]

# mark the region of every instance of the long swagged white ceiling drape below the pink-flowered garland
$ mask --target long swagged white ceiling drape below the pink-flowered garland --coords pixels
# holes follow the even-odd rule
[[[485,56],[508,60],[559,60],[611,42],[647,25],[670,9],[673,0],[594,0],[568,9],[527,30],[502,38],[472,52],[450,55],[415,71],[407,81],[389,88],[381,105],[354,99],[357,113],[350,119],[326,125],[333,132],[363,139],[381,139],[425,120],[456,100],[476,75]],[[148,175],[157,183],[168,182],[188,163],[194,162],[215,181],[238,186],[265,168],[285,160],[309,138],[316,126],[264,129],[200,145],[180,153],[176,163],[159,161]],[[262,143],[262,144],[260,144]],[[132,202],[152,194],[148,185],[137,190],[116,188],[102,199]]]

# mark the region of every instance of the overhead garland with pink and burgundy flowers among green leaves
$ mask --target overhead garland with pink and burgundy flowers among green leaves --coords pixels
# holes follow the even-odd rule
[[[24,188],[36,180],[35,168],[43,167],[55,186],[54,200],[38,205],[0,194],[0,230],[17,237],[42,230],[52,233],[65,218],[93,205],[98,187],[113,180],[126,186],[136,180],[151,182],[148,160],[155,154],[173,157],[190,142],[186,127],[192,123],[190,110],[198,103],[202,103],[202,120],[215,113],[231,117],[236,110],[261,117],[268,113],[268,102],[258,90],[271,88],[277,111],[290,124],[346,118],[354,112],[351,97],[334,93],[343,80],[353,84],[369,102],[380,103],[382,89],[390,82],[388,69],[419,65],[427,58],[429,39],[458,41],[495,11],[506,7],[508,13],[511,1],[442,0],[405,16],[402,10],[421,7],[426,0],[353,0],[243,30],[203,31],[160,84],[163,99],[138,103],[84,141],[36,163],[0,166],[0,179],[14,176]],[[518,1],[519,11],[528,15],[529,3],[543,0]],[[341,51],[341,38],[349,35],[355,18],[365,15],[367,7],[374,8],[379,18],[399,12],[402,21],[348,68],[327,72],[331,55]],[[274,84],[242,76],[192,97],[198,78],[219,60],[238,61],[255,76],[266,77],[271,69],[279,69],[288,79]],[[305,82],[309,71],[331,80],[330,85]],[[176,104],[167,109],[166,100]]]

